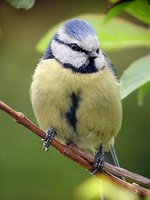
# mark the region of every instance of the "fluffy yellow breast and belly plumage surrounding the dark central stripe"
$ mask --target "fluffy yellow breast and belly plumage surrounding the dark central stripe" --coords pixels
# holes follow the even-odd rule
[[[72,93],[80,99],[76,130],[65,117]],[[55,59],[43,60],[33,76],[31,101],[40,127],[56,128],[61,142],[70,138],[80,147],[96,148],[100,143],[107,145],[121,126],[119,87],[107,67],[81,74],[65,69]]]

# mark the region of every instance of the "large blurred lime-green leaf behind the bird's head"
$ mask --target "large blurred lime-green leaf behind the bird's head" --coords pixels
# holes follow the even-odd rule
[[[85,14],[76,16],[76,18],[85,19],[93,25],[104,50],[118,50],[120,48],[140,46],[150,47],[150,34],[146,28],[118,18],[104,23],[104,15]],[[45,50],[62,23],[53,26],[38,42],[36,48],[39,52],[42,53]]]

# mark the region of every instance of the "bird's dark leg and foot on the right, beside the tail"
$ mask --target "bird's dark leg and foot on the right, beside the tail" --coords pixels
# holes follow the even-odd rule
[[[96,174],[97,172],[102,172],[103,167],[104,167],[104,150],[103,146],[100,145],[98,152],[95,154],[94,157],[92,174]]]

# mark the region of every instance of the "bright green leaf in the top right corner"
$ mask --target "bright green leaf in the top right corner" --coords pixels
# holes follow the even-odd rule
[[[128,4],[125,10],[138,20],[150,24],[150,4],[149,0],[134,0]]]

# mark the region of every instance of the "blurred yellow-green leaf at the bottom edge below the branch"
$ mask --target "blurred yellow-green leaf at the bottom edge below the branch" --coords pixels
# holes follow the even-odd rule
[[[90,178],[82,183],[75,193],[77,200],[96,200],[104,199],[109,200],[138,200],[139,198],[129,190],[122,188],[115,184],[104,175]]]

